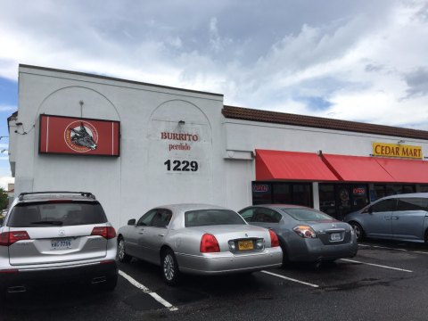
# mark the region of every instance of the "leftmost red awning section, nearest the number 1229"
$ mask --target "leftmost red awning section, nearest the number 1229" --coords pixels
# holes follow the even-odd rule
[[[256,180],[337,181],[316,153],[256,150]]]

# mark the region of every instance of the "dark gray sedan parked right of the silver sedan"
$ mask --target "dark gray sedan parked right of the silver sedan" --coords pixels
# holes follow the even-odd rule
[[[250,206],[239,213],[251,225],[272,228],[276,232],[284,252],[284,263],[318,264],[357,254],[357,237],[352,227],[319,210],[272,204]]]

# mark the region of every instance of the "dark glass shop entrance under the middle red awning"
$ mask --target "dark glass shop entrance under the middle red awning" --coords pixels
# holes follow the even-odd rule
[[[368,204],[366,184],[320,184],[319,207],[333,218],[342,219],[352,211]]]

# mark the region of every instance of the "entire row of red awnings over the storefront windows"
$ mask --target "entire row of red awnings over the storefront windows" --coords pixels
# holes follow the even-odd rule
[[[428,161],[256,150],[256,180],[428,184]]]

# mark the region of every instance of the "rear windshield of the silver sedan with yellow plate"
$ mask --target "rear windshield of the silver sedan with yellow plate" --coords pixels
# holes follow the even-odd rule
[[[185,212],[185,227],[213,225],[246,225],[233,210],[189,210]]]

